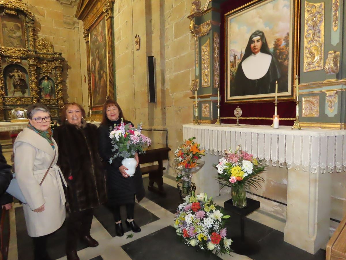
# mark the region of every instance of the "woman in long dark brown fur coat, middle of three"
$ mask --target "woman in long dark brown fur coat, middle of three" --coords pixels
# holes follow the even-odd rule
[[[96,125],[86,123],[85,111],[76,103],[66,104],[62,124],[54,129],[59,147],[58,165],[67,182],[66,210],[68,260],[78,260],[77,240],[90,247],[98,242],[90,235],[93,208],[106,202],[105,172],[98,153]]]

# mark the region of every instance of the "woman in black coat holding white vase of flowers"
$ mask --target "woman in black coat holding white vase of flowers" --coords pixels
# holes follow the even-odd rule
[[[140,232],[140,227],[134,221],[135,195],[138,201],[145,195],[142,173],[138,166],[138,154],[135,154],[137,161],[136,172],[130,176],[125,172],[128,170],[121,161],[123,157],[117,157],[109,163],[110,158],[115,154],[112,151],[110,132],[115,125],[120,125],[121,119],[124,119],[121,108],[117,102],[108,99],[103,105],[102,122],[99,127],[99,153],[106,165],[107,170],[107,197],[108,206],[111,208],[115,229],[118,236],[124,235],[124,229],[121,224],[120,206],[126,206],[127,219],[126,225],[131,227],[133,232]],[[125,124],[132,124],[124,119]],[[133,125],[133,124],[132,124]]]

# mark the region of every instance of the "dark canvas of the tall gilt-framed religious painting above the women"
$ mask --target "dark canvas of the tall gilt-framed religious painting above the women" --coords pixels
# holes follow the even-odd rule
[[[106,22],[101,19],[90,31],[90,71],[92,106],[103,105],[107,96]]]

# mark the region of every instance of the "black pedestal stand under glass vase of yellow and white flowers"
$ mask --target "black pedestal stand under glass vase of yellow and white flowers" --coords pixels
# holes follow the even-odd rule
[[[224,203],[225,209],[240,216],[240,236],[231,237],[233,240],[231,249],[233,249],[235,253],[241,255],[253,254],[260,250],[260,245],[257,243],[257,241],[248,239],[244,235],[244,218],[256,209],[260,208],[260,201],[246,198],[246,204],[247,206],[245,208],[238,208],[233,206],[232,199],[227,200]]]

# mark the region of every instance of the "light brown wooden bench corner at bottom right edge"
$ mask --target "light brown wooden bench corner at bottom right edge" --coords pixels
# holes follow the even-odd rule
[[[327,244],[326,260],[346,259],[346,216]]]

